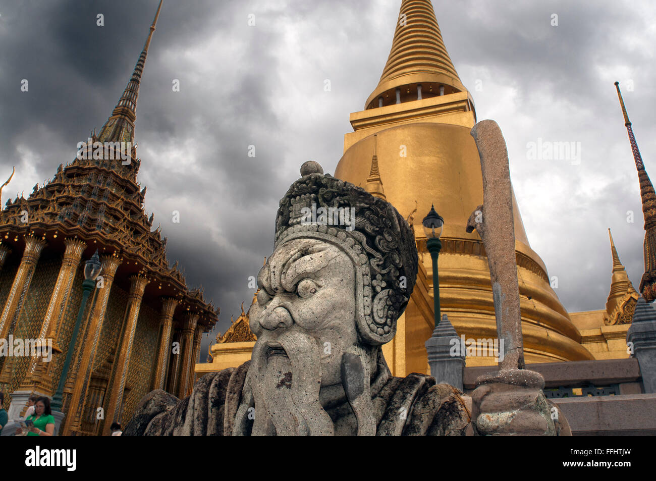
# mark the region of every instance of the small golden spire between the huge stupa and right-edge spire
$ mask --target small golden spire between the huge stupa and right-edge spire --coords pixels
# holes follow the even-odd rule
[[[633,310],[638,303],[638,291],[633,287],[622,262],[619,260],[610,229],[608,229],[608,236],[611,240],[613,275],[611,276],[611,289],[606,299],[604,324],[629,324],[633,318]]]

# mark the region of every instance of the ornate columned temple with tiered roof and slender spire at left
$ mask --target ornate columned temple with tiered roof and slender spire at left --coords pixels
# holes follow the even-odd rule
[[[53,351],[50,362],[0,357],[0,389],[10,419],[24,413],[31,394],[52,397],[74,343],[60,435],[108,434],[155,388],[186,396],[201,336],[218,320],[202,289],[188,287],[177,262],[169,266],[167,238],[146,215],[146,188],[136,180],[136,101],[160,9],[100,133],[0,212],[0,339],[46,339]],[[72,339],[84,264],[94,252],[102,271]]]

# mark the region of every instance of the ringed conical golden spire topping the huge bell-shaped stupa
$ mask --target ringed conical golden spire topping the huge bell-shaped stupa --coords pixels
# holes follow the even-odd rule
[[[417,85],[422,94],[417,95]],[[443,93],[440,86],[444,87]],[[365,109],[379,106],[380,96],[385,105],[394,104],[395,90],[400,87],[405,87],[400,94],[415,96],[413,100],[467,90],[444,46],[430,0],[401,2],[390,56]]]

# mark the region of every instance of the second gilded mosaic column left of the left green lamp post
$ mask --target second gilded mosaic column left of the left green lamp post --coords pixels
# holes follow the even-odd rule
[[[25,237],[23,257],[20,260],[20,266],[18,266],[18,271],[14,277],[14,283],[11,285],[9,296],[5,302],[5,307],[0,315],[0,339],[7,339],[14,330],[14,325],[16,324],[16,320],[20,316],[20,311],[23,307],[23,301],[30,289],[30,282],[34,275],[34,269],[37,266],[39,256],[45,245],[46,241],[43,239],[35,238],[34,236]],[[3,366],[4,362],[5,358],[0,358],[0,366]],[[10,379],[11,373],[3,372],[0,376],[0,383],[9,382],[5,380],[7,379],[7,376],[9,376]]]

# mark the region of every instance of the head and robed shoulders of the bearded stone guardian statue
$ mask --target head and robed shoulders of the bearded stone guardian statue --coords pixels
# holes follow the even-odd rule
[[[281,199],[258,274],[251,360],[207,374],[188,398],[147,394],[123,436],[463,436],[472,400],[434,378],[393,377],[381,346],[417,277],[394,207],[318,163]]]

